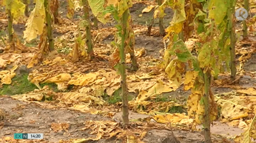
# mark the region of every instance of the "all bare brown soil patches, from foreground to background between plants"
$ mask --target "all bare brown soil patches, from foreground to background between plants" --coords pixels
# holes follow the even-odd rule
[[[151,18],[153,12],[145,13],[142,17],[139,14],[146,8],[146,4],[134,4],[131,8],[131,16],[134,19],[134,25],[149,25],[151,23]],[[60,3],[61,16],[66,16],[65,2]],[[172,19],[173,12],[170,9],[166,9],[166,16],[164,17],[164,26],[169,25]],[[76,15],[75,15],[76,16]],[[154,26],[157,26],[158,22],[155,20]],[[107,25],[113,26],[113,25]],[[103,25],[99,25],[102,28]],[[106,26],[105,26],[106,27]],[[25,29],[24,25],[14,25],[14,30],[18,35],[22,35],[22,31]],[[55,32],[55,36],[60,36]],[[146,48],[147,54],[154,57],[163,56],[159,51],[163,50],[164,43],[161,41],[161,37],[138,35],[136,36],[136,48]],[[104,42],[109,43],[113,41],[113,35],[109,35]],[[251,59],[245,64],[246,71],[255,71],[256,69],[256,55],[252,55]],[[251,87],[255,85],[256,80],[253,77],[244,76],[240,79],[240,86]],[[232,89],[223,87],[213,87],[214,94],[229,92]],[[172,98],[178,99],[180,102],[186,103],[187,96],[190,92],[183,92],[183,87],[171,93],[164,93],[167,96],[172,96]],[[85,121],[87,120],[114,120],[120,122],[122,120],[121,112],[117,112],[113,118],[102,117],[101,115],[86,114],[83,112],[68,110],[66,108],[55,108],[46,109],[40,107],[39,104],[33,102],[21,102],[11,99],[6,96],[0,96],[0,109],[4,111],[2,114],[2,119],[4,125],[0,129],[0,137],[13,136],[13,133],[43,133],[43,141],[58,142],[60,139],[71,139],[71,138],[88,138],[90,135],[88,130],[81,130],[85,126]],[[136,112],[130,112],[131,119],[143,118],[148,115],[137,114]],[[0,122],[1,123],[1,122]],[[54,132],[51,129],[51,123],[69,123],[70,127],[66,131]],[[201,126],[198,126],[201,128]],[[237,127],[230,127],[226,124],[221,124],[218,121],[214,123],[211,128],[211,133],[213,134],[214,142],[229,142],[227,139],[222,138],[222,136],[236,136],[242,133],[243,130]],[[170,136],[170,130],[150,130],[145,138],[144,142],[155,143],[162,142],[165,138]],[[204,136],[201,132],[189,132],[184,130],[173,130],[174,135],[181,142],[199,143],[204,140]],[[91,142],[122,142],[111,139],[100,139],[99,141]],[[232,141],[231,141],[232,142]]]

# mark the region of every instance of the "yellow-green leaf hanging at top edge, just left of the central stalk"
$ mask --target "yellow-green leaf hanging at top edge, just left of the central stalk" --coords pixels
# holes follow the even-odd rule
[[[92,13],[97,19],[102,23],[107,23],[107,20],[104,18],[102,12],[104,11],[104,0],[88,0]]]

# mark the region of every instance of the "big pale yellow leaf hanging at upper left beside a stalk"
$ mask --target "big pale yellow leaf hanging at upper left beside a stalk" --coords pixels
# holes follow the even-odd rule
[[[36,38],[43,33],[43,26],[45,23],[45,7],[44,0],[37,0],[36,7],[31,12],[30,17],[26,23],[26,30],[24,31],[24,38],[27,41]]]

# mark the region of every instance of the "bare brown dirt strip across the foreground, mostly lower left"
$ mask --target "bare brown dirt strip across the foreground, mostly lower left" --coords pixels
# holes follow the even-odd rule
[[[31,102],[20,102],[8,97],[0,98],[0,109],[5,112],[4,127],[2,127],[0,136],[13,136],[14,133],[43,133],[44,140],[49,142],[58,142],[60,139],[72,139],[72,138],[88,138],[90,135],[88,130],[81,130],[85,126],[87,120],[115,120],[121,121],[121,113],[117,113],[114,118],[106,118],[101,115],[86,114],[83,112],[67,110],[67,109],[45,109],[40,105]],[[130,119],[137,119],[147,117],[147,115],[137,114],[136,112],[130,112]],[[52,123],[68,123],[69,129],[66,131],[54,132],[51,129]],[[225,132],[223,132],[225,130]],[[145,138],[144,142],[155,143],[161,142],[169,136],[170,130],[150,130]],[[204,140],[204,136],[200,132],[187,132],[183,130],[173,130],[174,135],[181,142],[193,142],[199,143]],[[213,126],[212,133],[221,135],[223,133],[229,133],[229,135],[236,135],[241,133],[241,130],[235,127],[228,127],[226,125],[219,124]],[[216,142],[222,141],[222,138],[213,135]],[[93,142],[93,141],[92,141]],[[122,142],[113,139],[100,139],[95,142]]]

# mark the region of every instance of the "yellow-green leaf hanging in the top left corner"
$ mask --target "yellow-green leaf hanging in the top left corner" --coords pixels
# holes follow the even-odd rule
[[[2,4],[6,7],[6,10],[11,10],[13,19],[19,19],[24,16],[25,4],[20,0],[4,0]]]

